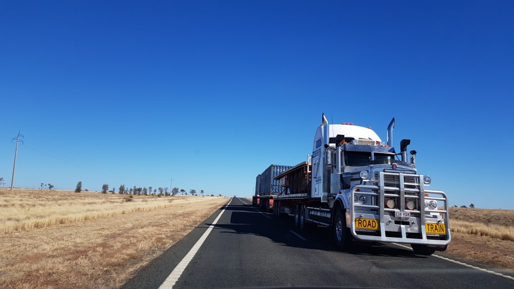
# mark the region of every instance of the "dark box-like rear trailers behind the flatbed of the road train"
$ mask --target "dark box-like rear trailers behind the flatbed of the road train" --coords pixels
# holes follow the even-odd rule
[[[262,174],[255,178],[255,193],[252,197],[253,206],[269,211],[273,207],[273,196],[285,190],[274,178],[288,170],[290,166],[270,165]]]

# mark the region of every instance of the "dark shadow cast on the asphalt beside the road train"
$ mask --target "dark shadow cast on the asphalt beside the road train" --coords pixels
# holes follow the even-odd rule
[[[355,242],[347,251],[341,251],[332,242],[332,232],[326,227],[313,226],[309,227],[308,230],[301,230],[295,228],[292,217],[278,218],[272,214],[258,211],[250,205],[230,205],[225,210],[225,214],[230,214],[230,223],[219,222],[214,225],[214,228],[221,230],[219,233],[223,234],[248,235],[248,238],[254,238],[248,242],[254,244],[262,245],[265,242],[273,242],[282,246],[322,250],[342,255],[427,258],[427,256],[415,255],[409,249],[383,243]]]

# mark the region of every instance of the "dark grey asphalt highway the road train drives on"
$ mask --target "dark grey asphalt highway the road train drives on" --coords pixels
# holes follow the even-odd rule
[[[330,241],[328,229],[295,229],[292,218],[260,213],[245,199],[233,198],[224,208],[173,288],[514,287],[514,280],[418,256],[392,244],[340,252]],[[123,288],[158,288],[220,212],[141,269]]]

